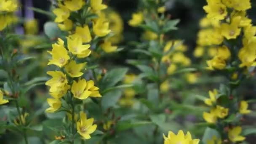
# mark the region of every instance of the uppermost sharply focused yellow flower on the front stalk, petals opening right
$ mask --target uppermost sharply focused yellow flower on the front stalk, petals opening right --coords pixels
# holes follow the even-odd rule
[[[91,54],[91,50],[89,50],[91,45],[83,45],[81,37],[67,37],[67,46],[69,51],[77,55],[78,58],[85,58]]]

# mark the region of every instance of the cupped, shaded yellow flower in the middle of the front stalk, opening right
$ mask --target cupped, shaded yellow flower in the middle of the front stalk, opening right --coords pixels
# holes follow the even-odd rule
[[[65,66],[66,72],[70,77],[80,77],[83,75],[83,72],[80,72],[86,63],[77,64],[74,60],[70,61],[69,64]]]

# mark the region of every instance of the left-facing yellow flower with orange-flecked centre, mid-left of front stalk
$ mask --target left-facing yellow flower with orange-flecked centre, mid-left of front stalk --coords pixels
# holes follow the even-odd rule
[[[64,73],[59,71],[49,71],[47,74],[53,77],[45,83],[45,85],[51,87],[50,92],[56,92],[59,88],[64,88],[64,85],[67,84],[67,77]]]

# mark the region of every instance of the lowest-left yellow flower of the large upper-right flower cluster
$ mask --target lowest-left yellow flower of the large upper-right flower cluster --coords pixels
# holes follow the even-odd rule
[[[221,59],[219,56],[214,56],[213,59],[206,61],[208,67],[206,69],[213,70],[213,69],[224,69],[226,67],[226,62],[224,59]]]

